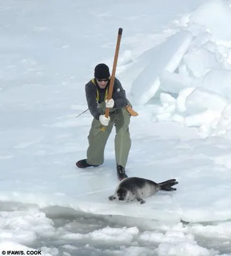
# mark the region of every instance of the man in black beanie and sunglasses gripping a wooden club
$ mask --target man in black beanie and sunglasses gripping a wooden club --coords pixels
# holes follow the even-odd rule
[[[112,98],[107,99],[110,85],[110,71],[107,65],[98,64],[94,71],[94,79],[90,80],[85,86],[88,108],[94,117],[88,135],[87,158],[79,160],[76,165],[79,168],[87,168],[103,164],[105,145],[114,125],[116,127],[114,147],[117,176],[119,180],[123,180],[128,177],[125,167],[131,147],[128,127],[131,115],[125,107],[131,105],[126,98],[125,90],[123,90],[120,81],[116,77]],[[106,107],[110,108],[108,118],[104,115]],[[101,130],[101,126],[106,126],[105,131]]]

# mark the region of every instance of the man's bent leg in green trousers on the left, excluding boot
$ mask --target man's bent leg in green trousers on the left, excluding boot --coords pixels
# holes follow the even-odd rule
[[[88,135],[87,163],[90,165],[103,164],[104,149],[111,134],[113,123],[110,121],[105,131],[102,131],[100,126],[101,122],[94,118]]]

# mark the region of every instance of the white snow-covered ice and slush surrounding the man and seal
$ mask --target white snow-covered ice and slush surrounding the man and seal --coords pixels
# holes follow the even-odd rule
[[[0,0],[1,252],[231,255],[230,6]],[[179,182],[144,205],[108,200],[114,131],[103,166],[75,166],[84,86],[96,64],[112,69],[119,27],[117,77],[139,113],[127,174]]]

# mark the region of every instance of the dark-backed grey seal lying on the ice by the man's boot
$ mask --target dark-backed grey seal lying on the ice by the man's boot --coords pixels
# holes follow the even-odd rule
[[[176,184],[178,182],[175,179],[155,183],[139,177],[128,177],[119,183],[114,195],[110,196],[109,200],[118,199],[126,202],[137,200],[139,203],[144,204],[145,200],[143,198],[151,197],[160,190],[175,191],[177,189],[172,188],[172,186]]]

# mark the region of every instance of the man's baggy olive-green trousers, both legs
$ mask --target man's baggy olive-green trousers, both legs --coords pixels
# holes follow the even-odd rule
[[[104,112],[103,112],[104,113]],[[117,109],[110,113],[110,122],[105,131],[100,129],[101,122],[95,118],[92,121],[88,135],[89,146],[87,149],[87,162],[90,165],[102,165],[104,162],[104,149],[113,126],[116,127],[116,137],[114,139],[114,149],[116,162],[122,167],[126,167],[128,154],[131,148],[129,133],[130,114],[125,108]]]

